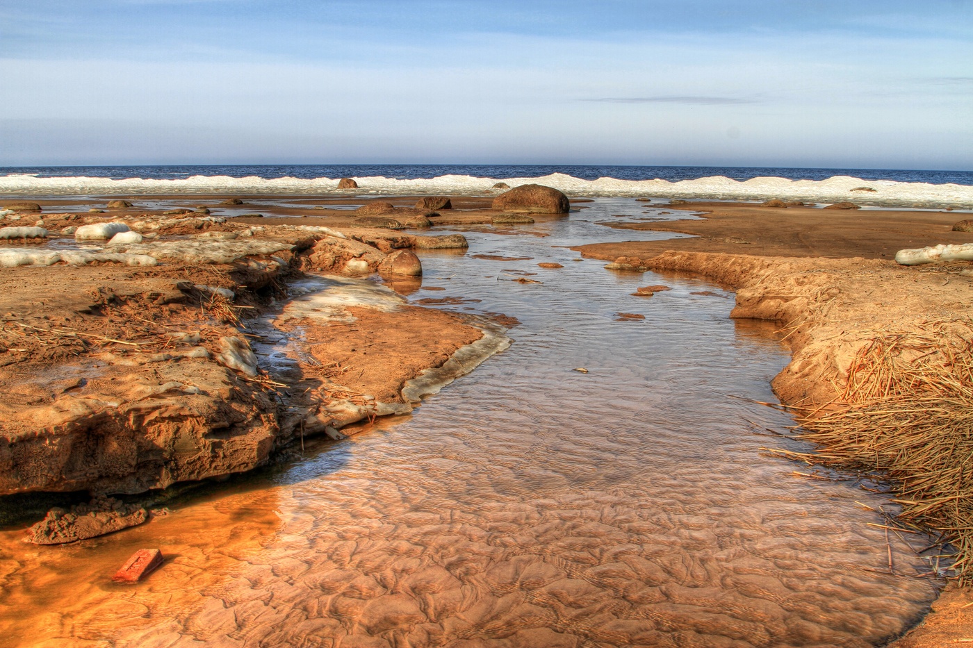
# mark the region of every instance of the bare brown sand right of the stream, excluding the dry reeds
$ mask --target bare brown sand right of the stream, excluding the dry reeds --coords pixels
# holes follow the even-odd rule
[[[732,316],[785,323],[793,361],[774,380],[784,403],[840,401],[849,365],[879,335],[924,336],[949,345],[973,338],[973,264],[904,267],[904,248],[968,243],[953,232],[968,214],[947,211],[825,210],[694,202],[702,218],[613,226],[692,238],[593,243],[574,249],[653,270],[700,273],[737,292]],[[933,330],[935,333],[932,333]],[[944,332],[944,329],[947,329]],[[934,648],[973,636],[969,588],[951,586],[897,648]]]

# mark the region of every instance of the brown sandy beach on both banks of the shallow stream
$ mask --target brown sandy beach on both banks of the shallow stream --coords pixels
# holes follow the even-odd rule
[[[135,494],[246,471],[286,459],[306,437],[341,439],[350,423],[411,412],[419,396],[505,348],[505,327],[516,325],[507,315],[516,313],[392,308],[387,297],[360,291],[342,304],[279,313],[279,303],[299,303],[306,272],[335,281],[378,274],[393,291],[414,293],[414,251],[464,250],[462,236],[430,227],[517,235],[525,224],[565,217],[497,211],[492,198],[415,207],[418,198],[369,199],[353,211],[363,200],[244,197],[234,218],[203,211],[223,197],[139,197],[102,213],[88,211],[90,199],[37,199],[41,211],[18,212],[3,225],[40,221],[64,233],[110,220],[140,240],[99,251],[66,245],[56,249],[89,256],[31,258],[0,275],[0,388],[9,395],[0,404],[8,442],[0,492]],[[164,206],[138,206],[149,199]],[[575,210],[585,204],[571,201]],[[180,207],[187,212],[162,213]],[[703,275],[736,293],[732,317],[779,322],[792,359],[773,386],[798,414],[858,405],[850,386],[864,388],[852,383],[876,340],[895,337],[896,358],[907,364],[969,354],[973,264],[891,260],[904,248],[973,242],[952,231],[965,214],[727,202],[667,210],[702,217],[604,225],[693,237],[574,249],[620,272]],[[0,254],[43,244],[5,246]],[[261,343],[281,332],[294,341],[290,364],[269,370]],[[414,382],[422,377],[425,386]],[[971,636],[970,601],[968,590],[951,586],[934,614],[891,645]]]

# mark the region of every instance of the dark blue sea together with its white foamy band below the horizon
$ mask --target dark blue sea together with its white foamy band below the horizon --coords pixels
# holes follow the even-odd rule
[[[353,177],[358,190],[337,190]],[[973,172],[704,166],[214,165],[0,167],[0,197],[489,195],[497,182],[569,196],[707,198],[973,208]],[[495,193],[495,192],[494,192]]]

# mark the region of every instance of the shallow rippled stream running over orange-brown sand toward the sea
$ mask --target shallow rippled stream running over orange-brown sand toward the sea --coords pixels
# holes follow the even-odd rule
[[[517,317],[509,349],[410,416],[308,443],[168,517],[59,548],[0,533],[0,634],[684,648],[873,646],[906,630],[935,583],[868,525],[884,520],[862,504],[892,510],[887,498],[795,477],[760,450],[793,448],[765,429],[791,419],[734,398],[774,400],[787,361],[774,326],[729,319],[733,295],[702,279],[604,270],[563,247],[652,236],[596,224],[645,211],[601,199],[521,235],[465,231],[466,255],[424,254],[409,299]],[[631,296],[650,284],[671,290]],[[169,559],[138,586],[111,583],[142,547]],[[889,549],[901,575],[882,573]]]

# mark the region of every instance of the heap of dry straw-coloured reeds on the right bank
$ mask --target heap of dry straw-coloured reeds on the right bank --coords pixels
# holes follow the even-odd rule
[[[960,584],[973,583],[973,339],[970,322],[932,335],[880,336],[848,372],[843,406],[802,421],[819,450],[800,458],[879,470],[893,482],[899,521],[955,548]]]

